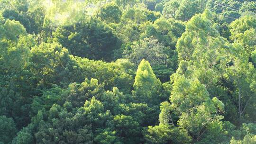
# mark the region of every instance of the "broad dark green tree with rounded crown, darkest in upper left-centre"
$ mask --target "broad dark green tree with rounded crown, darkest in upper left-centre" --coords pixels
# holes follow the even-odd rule
[[[70,54],[95,60],[113,60],[111,54],[119,47],[119,39],[110,27],[96,19],[84,19],[73,26],[58,27],[54,41]]]

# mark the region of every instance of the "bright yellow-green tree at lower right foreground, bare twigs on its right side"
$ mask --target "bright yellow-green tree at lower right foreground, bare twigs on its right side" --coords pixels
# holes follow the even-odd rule
[[[203,84],[197,80],[188,80],[184,76],[173,85],[170,101],[174,113],[180,115],[177,122],[186,129],[194,141],[200,141],[205,131],[224,111],[224,104],[216,97],[210,99]]]

